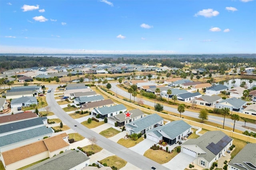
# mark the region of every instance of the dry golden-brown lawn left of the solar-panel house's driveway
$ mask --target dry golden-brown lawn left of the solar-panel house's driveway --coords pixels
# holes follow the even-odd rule
[[[150,158],[151,160],[158,162],[159,164],[164,164],[164,163],[169,162],[177,154],[178,153],[177,153],[176,149],[174,149],[174,151],[171,152],[170,154],[165,151],[162,151],[162,150],[148,149],[144,153],[144,156],[146,156],[147,158]]]

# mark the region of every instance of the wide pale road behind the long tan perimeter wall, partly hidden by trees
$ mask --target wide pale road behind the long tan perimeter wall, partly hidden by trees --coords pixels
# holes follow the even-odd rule
[[[117,84],[118,83],[111,83],[112,88],[110,90],[112,90],[115,94],[117,93],[118,95],[121,95],[123,97],[126,97],[126,98],[130,99],[130,93],[128,93],[128,92],[120,89],[119,87],[117,87],[116,86]],[[131,96],[131,100],[132,101],[134,100],[133,96]],[[138,101],[137,97],[135,97],[135,101]],[[146,100],[143,100],[143,102],[144,102],[144,105],[148,105],[148,106],[152,106],[152,107],[154,107],[154,105],[155,105],[154,102],[150,102],[150,101],[146,101]],[[164,106],[164,111],[180,114],[176,108],[167,107],[167,106]],[[191,111],[186,111],[186,109],[185,109],[185,112],[182,113],[182,115],[198,118],[199,114],[195,113],[195,112],[191,112]],[[212,116],[212,115],[208,116],[208,121],[220,124],[220,126],[219,126],[220,128],[222,128],[222,126],[223,126],[223,119],[224,119],[223,117]],[[225,119],[225,126],[233,128],[234,127],[234,121],[232,119],[227,119],[226,118]],[[235,129],[242,130],[242,131],[248,130],[247,128],[243,128],[242,126],[244,126],[244,122],[236,121]],[[253,123],[246,123],[246,127],[256,128],[256,125],[253,124]],[[250,131],[252,131],[252,130],[250,130]]]

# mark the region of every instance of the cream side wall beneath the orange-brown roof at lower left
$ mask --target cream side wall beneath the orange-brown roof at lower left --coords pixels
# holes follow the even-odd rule
[[[29,158],[26,158],[24,160],[20,160],[18,162],[14,162],[13,164],[10,164],[8,166],[6,166],[6,170],[14,170],[14,169],[18,169],[18,168],[21,168],[23,166],[26,166],[26,165],[29,165],[29,164],[32,164],[34,162],[37,162],[39,160],[42,160],[42,159],[45,159],[45,158],[48,158],[48,151],[46,152],[43,152],[43,153],[40,153],[38,155],[35,155],[35,156],[31,156]],[[2,155],[1,155],[1,158],[2,158]],[[3,159],[2,159],[3,160]],[[4,161],[3,161],[4,163]]]

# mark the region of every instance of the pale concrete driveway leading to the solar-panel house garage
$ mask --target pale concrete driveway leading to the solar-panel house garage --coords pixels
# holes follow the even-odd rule
[[[180,152],[172,160],[162,165],[170,170],[184,170],[195,159],[193,156]]]

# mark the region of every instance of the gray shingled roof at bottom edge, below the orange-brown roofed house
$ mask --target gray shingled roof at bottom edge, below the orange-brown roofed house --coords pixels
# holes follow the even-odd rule
[[[69,170],[90,159],[81,151],[68,150],[50,159],[26,168],[26,170]]]

